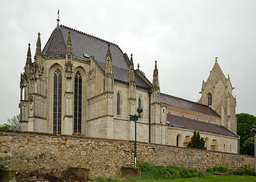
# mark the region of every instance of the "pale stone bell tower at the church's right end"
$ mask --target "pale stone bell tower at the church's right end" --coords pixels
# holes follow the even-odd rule
[[[206,82],[203,80],[201,104],[211,107],[221,116],[221,125],[236,134],[236,98],[232,95],[230,77],[222,72],[217,57]]]

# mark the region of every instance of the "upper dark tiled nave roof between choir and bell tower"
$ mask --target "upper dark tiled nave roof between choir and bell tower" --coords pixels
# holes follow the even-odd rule
[[[220,115],[218,115],[214,110],[212,110],[211,107],[208,107],[204,104],[199,104],[197,102],[192,102],[189,100],[185,100],[185,99],[181,99],[181,98],[174,97],[171,95],[167,95],[164,93],[160,94],[160,102],[164,102],[169,106],[179,107],[182,109],[187,109],[190,111],[195,111],[195,112],[199,112],[199,113],[203,113],[206,115],[211,115],[211,116],[220,118]]]

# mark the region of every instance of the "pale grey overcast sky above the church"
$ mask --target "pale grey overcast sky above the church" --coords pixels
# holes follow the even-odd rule
[[[236,95],[236,113],[256,116],[256,1],[2,1],[0,124],[20,113],[20,73],[37,33],[42,50],[60,24],[118,44],[160,91],[197,101],[218,57]],[[136,66],[137,67],[137,66]],[[135,67],[135,69],[136,69]]]

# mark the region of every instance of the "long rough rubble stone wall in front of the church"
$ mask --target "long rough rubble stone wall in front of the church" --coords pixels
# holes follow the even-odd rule
[[[88,168],[90,177],[120,177],[121,167],[134,165],[134,142],[26,131],[0,131],[0,165],[12,170],[44,170],[68,166]],[[206,170],[226,165],[237,169],[254,157],[137,142],[140,162],[178,165]]]

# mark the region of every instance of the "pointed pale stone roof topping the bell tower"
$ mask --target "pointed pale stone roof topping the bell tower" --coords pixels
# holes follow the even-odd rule
[[[215,63],[213,65],[213,67],[212,67],[212,71],[210,71],[210,75],[209,75],[207,80],[211,80],[213,85],[216,85],[216,83],[220,79],[223,81],[223,83],[226,83],[226,76],[222,72],[222,70],[220,68],[220,65],[218,64],[217,57],[216,57],[215,58]]]

